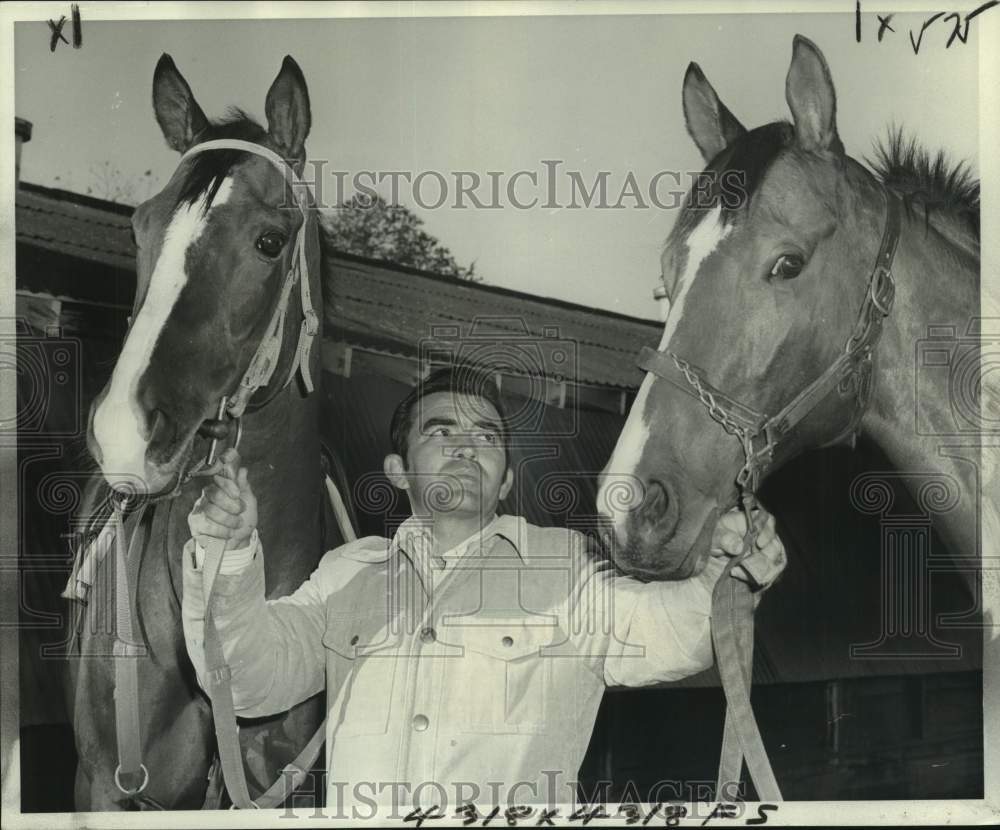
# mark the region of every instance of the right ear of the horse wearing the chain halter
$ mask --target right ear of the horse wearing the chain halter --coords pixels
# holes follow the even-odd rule
[[[795,121],[795,137],[805,150],[844,152],[837,135],[837,94],[823,53],[796,35],[785,79],[785,100]]]

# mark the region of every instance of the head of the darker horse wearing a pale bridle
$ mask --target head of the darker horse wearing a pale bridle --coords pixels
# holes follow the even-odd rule
[[[199,428],[218,417],[269,336],[272,388],[290,377],[307,303],[289,283],[293,272],[310,279],[296,270],[300,258],[319,257],[311,205],[292,187],[301,184],[311,120],[294,60],[285,58],[267,93],[267,129],[238,110],[210,122],[169,55],[156,66],[153,108],[183,158],[132,216],[133,316],[87,431],[107,482],[149,495],[179,485]],[[316,278],[318,266],[311,271]]]

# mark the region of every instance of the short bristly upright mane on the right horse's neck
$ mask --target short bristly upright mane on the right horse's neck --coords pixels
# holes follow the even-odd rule
[[[917,203],[928,215],[949,215],[979,239],[979,179],[966,162],[950,160],[943,150],[931,155],[896,126],[875,142],[875,157],[865,162],[908,206]]]

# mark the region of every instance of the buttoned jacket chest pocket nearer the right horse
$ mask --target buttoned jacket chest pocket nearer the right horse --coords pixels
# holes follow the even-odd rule
[[[460,731],[490,735],[543,734],[553,686],[545,646],[549,625],[477,617],[474,625],[443,626],[442,642],[461,649],[449,683]]]

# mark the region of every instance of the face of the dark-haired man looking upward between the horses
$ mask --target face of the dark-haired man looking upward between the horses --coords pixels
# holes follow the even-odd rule
[[[507,469],[500,415],[483,398],[451,392],[422,398],[406,455],[399,473],[415,511],[488,518],[510,491],[513,473]]]

